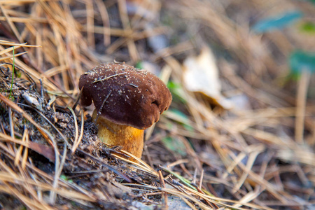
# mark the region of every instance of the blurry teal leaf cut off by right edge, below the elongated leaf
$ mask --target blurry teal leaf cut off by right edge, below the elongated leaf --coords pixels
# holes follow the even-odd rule
[[[291,73],[299,76],[302,71],[315,71],[315,52],[295,50],[289,57]]]

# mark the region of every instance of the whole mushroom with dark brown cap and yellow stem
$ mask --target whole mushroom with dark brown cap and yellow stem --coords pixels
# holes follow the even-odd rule
[[[169,108],[172,94],[153,73],[125,63],[101,64],[80,76],[80,104],[94,102],[97,136],[141,158],[144,130]]]

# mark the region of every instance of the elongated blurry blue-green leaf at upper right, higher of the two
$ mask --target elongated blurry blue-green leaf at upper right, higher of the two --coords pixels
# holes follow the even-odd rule
[[[256,33],[265,33],[275,29],[283,29],[300,18],[302,18],[302,13],[300,11],[284,13],[272,18],[260,20],[253,26],[253,31]]]

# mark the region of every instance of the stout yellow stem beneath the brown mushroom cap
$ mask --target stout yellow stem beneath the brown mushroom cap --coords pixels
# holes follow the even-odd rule
[[[93,111],[92,119],[97,118],[96,109]],[[106,120],[104,117],[99,116],[97,118],[97,127],[99,132],[97,137],[106,144],[112,146],[123,146],[123,150],[137,158],[141,158],[142,151],[144,148],[144,130],[139,130],[137,128],[128,125],[118,125]],[[130,158],[133,160],[133,158]]]

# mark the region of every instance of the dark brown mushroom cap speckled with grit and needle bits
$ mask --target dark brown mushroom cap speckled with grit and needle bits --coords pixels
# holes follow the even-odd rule
[[[141,130],[158,122],[172,102],[172,94],[160,78],[127,64],[102,64],[85,72],[79,80],[80,90],[82,87],[82,106],[93,101],[97,111],[102,108],[102,117]]]

